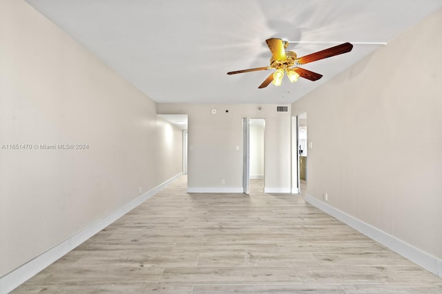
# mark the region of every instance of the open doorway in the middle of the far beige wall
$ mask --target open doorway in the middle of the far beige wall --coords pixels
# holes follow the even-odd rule
[[[243,118],[243,192],[264,191],[265,119]]]

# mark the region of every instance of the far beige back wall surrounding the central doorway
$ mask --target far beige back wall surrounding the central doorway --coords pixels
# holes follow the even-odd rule
[[[266,189],[290,191],[290,113],[276,112],[276,105],[272,104],[262,105],[262,112],[257,112],[257,106],[157,105],[158,114],[189,115],[189,188],[242,187],[242,118],[249,117],[265,118]],[[211,114],[211,109],[216,109],[217,114]]]

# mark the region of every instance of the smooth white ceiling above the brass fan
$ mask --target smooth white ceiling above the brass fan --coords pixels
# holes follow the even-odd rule
[[[441,0],[26,0],[157,103],[292,103],[430,12]],[[323,74],[281,87],[265,39],[303,56],[349,41],[352,52],[305,65]],[[404,48],[407,50],[407,48]],[[382,69],[380,69],[382,71]]]

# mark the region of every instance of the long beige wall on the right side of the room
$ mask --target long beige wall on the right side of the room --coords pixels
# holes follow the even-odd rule
[[[292,105],[314,144],[307,194],[439,259],[441,28],[439,10]]]

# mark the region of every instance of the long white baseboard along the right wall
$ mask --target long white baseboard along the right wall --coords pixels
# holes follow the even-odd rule
[[[415,264],[422,266],[427,271],[430,271],[430,273],[434,273],[434,275],[438,275],[442,278],[442,260],[439,258],[425,253],[424,251],[421,251],[420,249],[417,249],[416,247],[407,244],[406,242],[403,242],[402,240],[399,240],[398,238],[385,233],[384,231],[381,231],[370,224],[358,220],[357,218],[354,218],[353,216],[350,216],[349,214],[340,211],[339,209],[336,209],[314,197],[305,195],[305,200],[314,207],[317,207],[325,213],[328,213],[330,216],[344,222],[349,227],[352,227],[364,235],[367,235],[369,238],[372,238],[373,240],[392,249],[392,251],[399,253],[404,258],[407,258]]]

